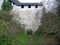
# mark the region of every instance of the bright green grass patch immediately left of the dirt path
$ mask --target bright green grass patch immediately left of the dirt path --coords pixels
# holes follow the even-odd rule
[[[14,40],[12,41],[13,45],[28,45],[29,37],[24,33],[14,35]]]

